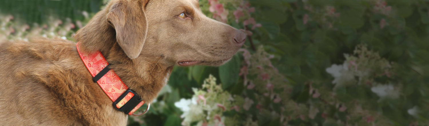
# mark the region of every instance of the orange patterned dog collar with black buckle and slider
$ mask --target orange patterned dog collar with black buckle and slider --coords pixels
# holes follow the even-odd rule
[[[109,68],[109,63],[107,63],[103,54],[100,51],[92,53],[82,52],[79,49],[79,43],[76,43],[76,49],[89,73],[94,77],[94,82],[97,81],[101,89],[113,101],[113,107],[125,114],[138,116],[133,113],[145,104],[145,101],[142,101],[136,92],[130,90],[122,82],[121,78],[115,74],[115,71]],[[146,108],[143,114],[148,111],[149,107],[150,104],[148,104],[148,108]]]

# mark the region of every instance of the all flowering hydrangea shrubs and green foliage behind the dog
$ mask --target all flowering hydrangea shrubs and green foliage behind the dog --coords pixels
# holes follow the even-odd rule
[[[245,46],[221,67],[175,67],[130,126],[429,125],[426,0],[199,2]],[[104,3],[1,0],[0,39],[72,40]]]

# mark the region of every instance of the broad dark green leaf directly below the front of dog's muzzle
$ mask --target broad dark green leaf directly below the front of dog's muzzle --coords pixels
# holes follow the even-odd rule
[[[238,55],[234,55],[230,61],[219,67],[219,77],[222,82],[222,88],[228,89],[235,85],[239,80],[239,73],[240,58]]]

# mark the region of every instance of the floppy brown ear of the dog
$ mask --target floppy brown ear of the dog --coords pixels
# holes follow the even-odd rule
[[[129,58],[142,51],[148,32],[145,5],[148,0],[118,0],[109,9],[107,21],[115,28],[116,40]]]

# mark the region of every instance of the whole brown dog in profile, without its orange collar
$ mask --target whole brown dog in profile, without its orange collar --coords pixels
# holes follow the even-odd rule
[[[75,39],[86,52],[100,50],[130,89],[152,101],[173,66],[222,65],[245,34],[207,18],[198,0],[111,0]],[[2,43],[0,68],[1,126],[126,125],[74,42]]]

